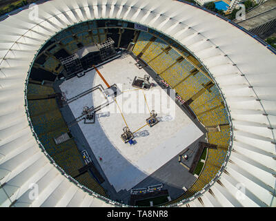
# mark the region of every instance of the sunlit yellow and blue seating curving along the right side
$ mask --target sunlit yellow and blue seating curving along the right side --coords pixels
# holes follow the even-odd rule
[[[208,90],[204,88],[210,82],[210,77],[208,77],[208,73],[199,61],[168,37],[153,30],[150,30],[150,33],[161,39],[152,41],[141,55],[141,59],[144,59],[185,101],[188,101],[194,95],[198,95],[190,103],[190,108],[193,109],[202,124],[205,126],[224,125],[221,126],[221,131],[207,133],[208,142],[217,145],[217,148],[208,149],[204,168],[195,183],[190,186],[184,195],[172,201],[178,202],[201,191],[215,177],[226,158],[230,144],[230,126],[228,125],[227,111],[217,86],[213,85]],[[139,55],[151,38],[150,34],[141,32],[132,52]],[[164,52],[164,48],[168,46],[171,49]],[[181,57],[181,53],[184,57],[177,61]],[[188,59],[185,59],[185,56]],[[193,70],[197,70],[195,66],[198,66],[201,71],[193,73]]]

